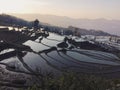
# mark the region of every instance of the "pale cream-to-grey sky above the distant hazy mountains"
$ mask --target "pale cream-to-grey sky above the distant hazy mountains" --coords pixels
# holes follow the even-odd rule
[[[120,0],[0,0],[0,13],[120,20]]]

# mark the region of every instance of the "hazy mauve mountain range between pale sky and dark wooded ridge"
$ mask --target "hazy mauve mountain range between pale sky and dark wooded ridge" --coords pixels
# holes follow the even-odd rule
[[[86,28],[88,30],[102,30],[111,34],[120,36],[120,20],[107,20],[107,19],[73,19],[63,16],[55,15],[41,15],[41,14],[12,14],[32,21],[38,18],[41,22],[49,23],[55,26],[75,26],[79,28]]]

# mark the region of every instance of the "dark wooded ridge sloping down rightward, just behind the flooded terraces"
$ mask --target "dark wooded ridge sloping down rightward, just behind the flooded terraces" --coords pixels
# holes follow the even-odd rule
[[[29,15],[28,15],[28,17],[29,17]],[[31,21],[34,21],[36,18],[34,17],[34,19],[31,20]],[[15,16],[12,16],[12,15],[1,14],[0,15],[0,25],[5,25],[5,26],[6,25],[9,25],[9,26],[15,25],[15,26],[29,26],[29,27],[31,27],[32,22],[24,20],[24,19],[25,18],[21,19],[21,17],[19,17],[19,15],[15,17]],[[46,19],[48,19],[48,18],[46,18]],[[54,22],[54,20],[55,19],[53,19],[53,22]],[[61,18],[61,20],[62,20],[62,18]],[[72,26],[67,27],[67,28],[63,28],[63,27],[53,26],[53,25],[50,25],[50,24],[47,24],[47,23],[43,23],[42,20],[40,22],[41,22],[40,24],[43,27],[47,27],[48,30],[52,30],[52,31],[55,30],[56,32],[60,32],[61,30],[64,30],[66,34],[74,33],[77,30],[77,32],[80,33],[81,35],[111,36],[111,34],[109,34],[107,32],[104,32],[104,31],[101,31],[101,30],[94,30],[94,29],[88,30],[88,29],[85,29],[85,28],[77,28],[77,27],[74,26],[74,24]]]

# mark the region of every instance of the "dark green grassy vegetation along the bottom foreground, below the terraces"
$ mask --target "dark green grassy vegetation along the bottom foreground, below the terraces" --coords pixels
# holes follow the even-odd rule
[[[40,81],[26,90],[120,90],[119,84],[120,79],[63,73],[59,77],[46,76],[42,82]]]

